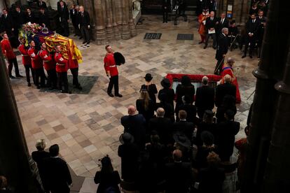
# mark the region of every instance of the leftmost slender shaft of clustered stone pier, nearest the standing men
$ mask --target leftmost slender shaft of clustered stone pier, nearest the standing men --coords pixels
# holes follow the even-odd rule
[[[106,43],[106,27],[104,24],[104,15],[102,9],[102,0],[95,0],[95,22],[96,22],[96,34],[95,40],[98,45]]]

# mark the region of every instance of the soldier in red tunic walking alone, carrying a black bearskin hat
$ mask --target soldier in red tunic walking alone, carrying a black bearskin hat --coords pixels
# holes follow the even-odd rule
[[[104,69],[106,71],[106,76],[110,78],[108,90],[106,92],[109,96],[113,97],[113,89],[115,91],[115,96],[122,97],[122,94],[119,94],[118,69],[115,59],[113,58],[112,48],[110,45],[106,45],[105,48],[106,56],[104,57]]]

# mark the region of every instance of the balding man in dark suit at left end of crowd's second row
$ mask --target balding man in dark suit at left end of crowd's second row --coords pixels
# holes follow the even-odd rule
[[[143,150],[146,135],[146,120],[144,116],[137,114],[134,106],[129,106],[128,115],[121,117],[120,122],[124,127],[124,132],[130,133],[140,150]]]

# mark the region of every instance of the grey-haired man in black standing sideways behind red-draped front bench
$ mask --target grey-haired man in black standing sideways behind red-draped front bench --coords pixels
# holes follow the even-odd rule
[[[219,75],[221,73],[221,68],[223,67],[223,62],[228,53],[228,28],[221,29],[221,34],[219,35],[218,47],[216,49],[216,68],[214,69],[214,74]]]

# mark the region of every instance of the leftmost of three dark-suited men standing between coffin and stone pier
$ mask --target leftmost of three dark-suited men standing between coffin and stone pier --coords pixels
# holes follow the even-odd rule
[[[64,5],[63,1],[60,1],[60,8],[58,9],[58,15],[60,16],[60,26],[62,27],[62,35],[69,36],[69,10]]]

